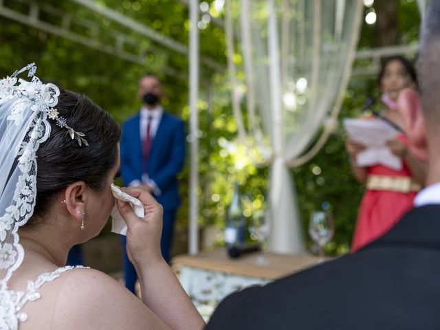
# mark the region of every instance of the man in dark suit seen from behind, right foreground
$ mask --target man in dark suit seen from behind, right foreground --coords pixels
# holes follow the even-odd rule
[[[206,329],[439,329],[440,0],[424,20],[421,95],[399,97],[411,150],[429,162],[416,207],[354,254],[232,294]]]

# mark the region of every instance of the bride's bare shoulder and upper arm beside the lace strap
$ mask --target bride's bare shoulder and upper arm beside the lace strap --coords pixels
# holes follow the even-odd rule
[[[143,303],[111,276],[91,268],[66,272],[54,311],[54,329],[162,329]]]

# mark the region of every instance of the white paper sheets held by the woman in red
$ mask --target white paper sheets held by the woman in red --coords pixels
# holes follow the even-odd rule
[[[391,153],[386,146],[388,140],[397,137],[397,131],[393,127],[381,120],[347,118],[344,120],[344,128],[349,133],[351,140],[366,146],[366,149],[356,156],[358,166],[382,164],[395,170],[401,170],[403,166],[401,158]]]

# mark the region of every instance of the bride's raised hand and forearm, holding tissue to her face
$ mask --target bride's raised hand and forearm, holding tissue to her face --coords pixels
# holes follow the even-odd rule
[[[145,215],[141,219],[129,203],[117,201],[119,212],[126,221],[126,252],[140,280],[142,301],[166,322],[169,329],[203,329],[203,318],[160,253],[162,206],[146,188],[137,186],[121,190],[144,204]],[[148,325],[136,327],[141,328],[159,329]]]

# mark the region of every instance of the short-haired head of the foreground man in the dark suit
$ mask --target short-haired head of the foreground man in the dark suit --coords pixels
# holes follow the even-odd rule
[[[399,97],[399,111],[412,153],[428,160],[428,181],[440,181],[440,0],[431,0],[421,28],[417,60],[419,91],[406,89]]]

